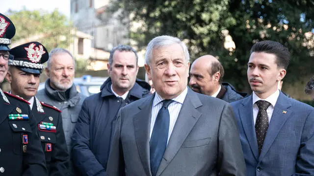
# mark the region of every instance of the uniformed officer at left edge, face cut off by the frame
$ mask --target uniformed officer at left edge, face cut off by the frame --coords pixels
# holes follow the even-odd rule
[[[8,71],[15,26],[0,14],[0,83]],[[28,102],[0,88],[0,175],[47,176],[45,155]]]

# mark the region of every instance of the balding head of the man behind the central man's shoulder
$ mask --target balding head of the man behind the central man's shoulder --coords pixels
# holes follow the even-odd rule
[[[190,75],[192,89],[211,96],[219,89],[224,68],[214,56],[204,55],[193,62]]]

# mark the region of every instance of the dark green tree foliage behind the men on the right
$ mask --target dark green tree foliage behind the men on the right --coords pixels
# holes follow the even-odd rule
[[[191,59],[204,54],[219,56],[225,68],[225,81],[248,88],[246,69],[251,46],[262,40],[278,41],[291,52],[286,82],[313,73],[313,0],[114,0],[131,21],[141,25],[130,37],[139,48],[159,35],[182,39]],[[113,8],[114,9],[114,8]],[[302,15],[303,18],[300,18]],[[123,15],[122,15],[123,16]],[[300,20],[301,19],[301,20]],[[227,31],[227,34],[224,33]],[[230,35],[235,49],[224,47]],[[310,43],[309,43],[310,41]],[[307,45],[306,45],[307,44]]]

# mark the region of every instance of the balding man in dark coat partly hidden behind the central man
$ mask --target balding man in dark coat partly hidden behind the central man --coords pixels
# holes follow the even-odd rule
[[[229,83],[222,83],[224,68],[221,63],[211,55],[196,59],[190,70],[190,86],[198,93],[222,99],[228,103],[237,101],[246,96],[240,93]]]

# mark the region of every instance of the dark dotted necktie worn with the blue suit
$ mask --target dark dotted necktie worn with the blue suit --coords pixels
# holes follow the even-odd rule
[[[257,144],[259,147],[259,154],[261,154],[262,146],[266,136],[268,128],[268,115],[267,108],[270,103],[264,100],[259,100],[256,102],[256,105],[259,107],[259,112],[257,114],[256,123],[255,123],[255,132],[257,138]]]

